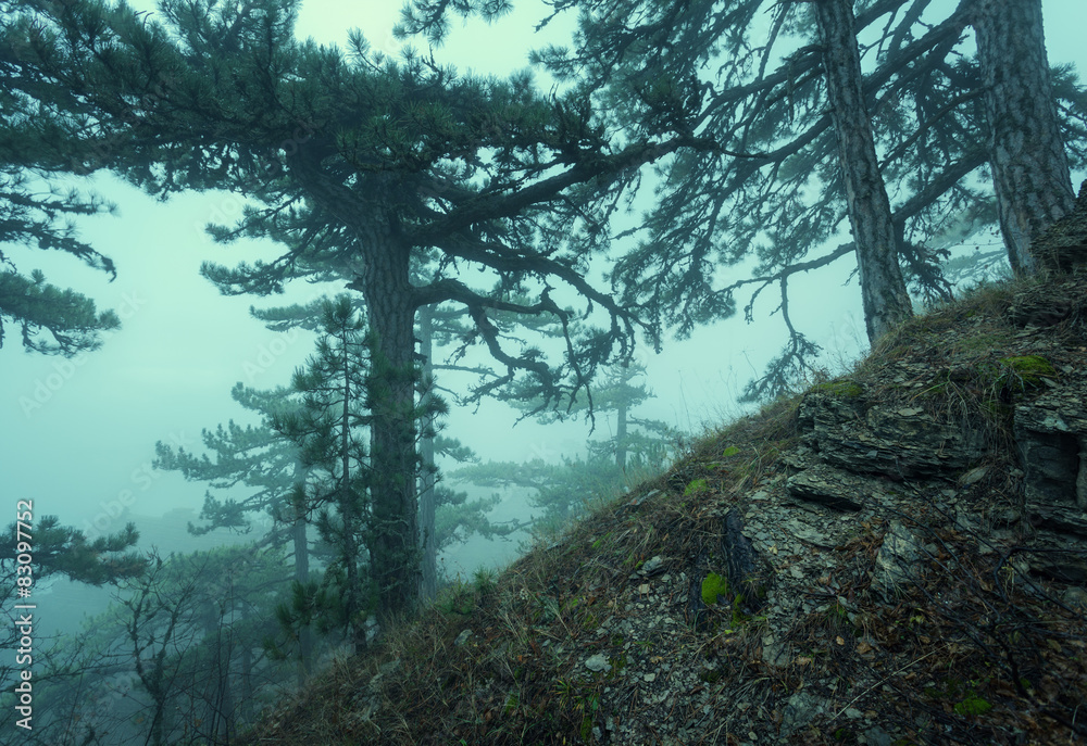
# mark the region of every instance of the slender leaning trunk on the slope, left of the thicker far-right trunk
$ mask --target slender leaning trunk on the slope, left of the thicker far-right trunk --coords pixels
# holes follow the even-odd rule
[[[852,0],[816,0],[815,15],[849,223],[857,245],[864,323],[869,341],[875,342],[910,318],[913,307],[898,264],[890,200],[864,103]]]

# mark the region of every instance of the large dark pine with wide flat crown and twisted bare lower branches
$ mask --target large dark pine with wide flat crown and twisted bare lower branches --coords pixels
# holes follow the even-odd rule
[[[62,111],[74,104],[55,81],[82,91],[78,110],[92,113],[91,131],[118,143],[103,167],[163,195],[241,192],[253,208],[217,235],[287,243],[289,253],[270,264],[209,267],[222,289],[274,291],[315,254],[353,276],[349,287],[364,299],[372,365],[386,394],[374,400],[370,429],[378,564],[402,561],[417,543],[417,488],[407,477],[417,458],[416,308],[464,307],[505,376],[538,380],[549,401],[569,395],[610,356],[629,356],[639,328],[629,309],[585,279],[619,198],[642,165],[684,144],[713,148],[665,131],[620,146],[594,121],[588,99],[576,91],[547,99],[526,75],[459,77],[412,53],[397,63],[358,34],[350,58],[300,43],[293,2],[198,8],[167,0],[165,26],[127,8],[35,10],[0,42],[17,60],[12,86],[58,99]],[[413,265],[430,257],[432,279],[414,286]],[[497,278],[504,294],[470,287],[468,266]],[[534,349],[507,349],[491,313],[565,321],[555,286],[579,293],[605,326],[570,340],[558,365]],[[510,300],[529,293],[532,303]],[[384,610],[411,605],[413,568],[376,572],[387,581]]]

